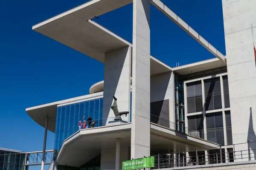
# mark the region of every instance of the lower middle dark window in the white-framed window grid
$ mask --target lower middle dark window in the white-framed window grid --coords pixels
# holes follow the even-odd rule
[[[222,112],[206,114],[207,139],[224,145]]]

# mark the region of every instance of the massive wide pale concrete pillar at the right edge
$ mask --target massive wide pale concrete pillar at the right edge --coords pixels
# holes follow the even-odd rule
[[[255,6],[255,0],[222,0],[233,144],[256,141]],[[235,149],[247,150],[247,144]],[[256,155],[256,143],[251,149]]]

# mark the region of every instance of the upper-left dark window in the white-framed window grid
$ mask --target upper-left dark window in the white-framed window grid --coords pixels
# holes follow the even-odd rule
[[[201,81],[187,83],[186,86],[188,113],[203,111]]]

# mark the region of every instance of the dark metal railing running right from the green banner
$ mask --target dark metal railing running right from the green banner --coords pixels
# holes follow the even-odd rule
[[[251,144],[253,144],[253,148]],[[203,149],[195,147],[195,150],[157,154],[154,155],[154,167],[150,169],[220,164],[234,161],[250,161],[252,159],[256,159],[256,142],[247,141],[225,146],[224,148],[221,145]]]

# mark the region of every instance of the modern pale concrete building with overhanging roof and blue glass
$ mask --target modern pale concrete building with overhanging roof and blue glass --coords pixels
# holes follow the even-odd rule
[[[91,20],[130,3],[133,44]],[[88,95],[26,109],[45,127],[45,141],[47,129],[55,133],[49,169],[118,170],[122,160],[158,153],[174,167],[254,160],[256,1],[222,3],[226,56],[160,0],[91,0],[33,26],[105,64],[104,81]],[[171,68],[152,57],[151,4],[215,58]],[[123,121],[114,120],[112,96],[129,111]],[[88,116],[95,127],[79,130]]]

